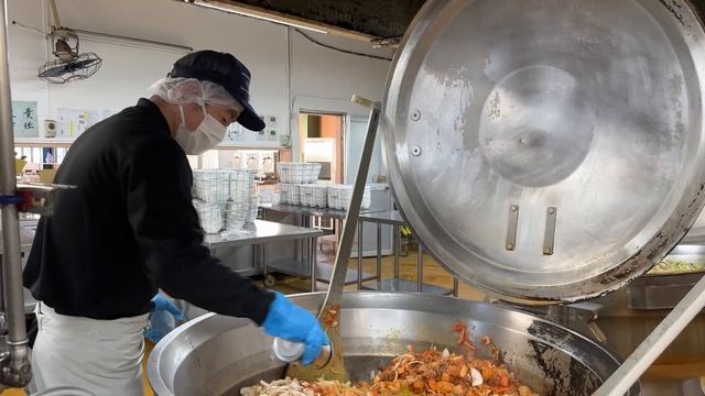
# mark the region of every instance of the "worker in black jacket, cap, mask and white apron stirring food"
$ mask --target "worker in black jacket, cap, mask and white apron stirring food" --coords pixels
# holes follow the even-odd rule
[[[40,391],[79,386],[96,395],[142,395],[142,332],[158,289],[273,337],[306,344],[304,363],[328,340],[316,319],[210,255],[192,204],[186,155],[223,141],[231,122],[259,131],[249,70],[232,55],[178,59],[140,99],[83,133],[55,182],[24,270],[40,301],[32,363]]]

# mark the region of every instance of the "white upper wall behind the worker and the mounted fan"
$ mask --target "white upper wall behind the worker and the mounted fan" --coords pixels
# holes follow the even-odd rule
[[[65,26],[123,36],[148,38],[195,50],[232,53],[252,73],[251,97],[261,114],[289,114],[288,28],[235,14],[203,9],[173,0],[57,0]],[[10,0],[9,20],[48,31],[46,0]],[[368,44],[330,35],[315,35],[346,48],[367,50]],[[48,50],[37,32],[10,25],[12,96],[36,100],[40,118],[55,117],[57,107],[122,108],[145,95],[145,89],[171,68],[177,52],[155,54],[106,43],[82,41],[82,50],[102,50],[102,68],[91,79],[65,87],[48,86],[36,78]],[[293,30],[291,44],[290,123],[297,152],[299,109],[365,114],[349,103],[352,94],[381,100],[389,62],[338,53],[313,44]],[[370,50],[367,50],[368,52]],[[388,51],[380,55],[389,56]],[[52,56],[53,57],[53,56]],[[163,65],[162,65],[163,63]],[[285,123],[284,128],[285,130]],[[295,154],[296,155],[296,154]]]

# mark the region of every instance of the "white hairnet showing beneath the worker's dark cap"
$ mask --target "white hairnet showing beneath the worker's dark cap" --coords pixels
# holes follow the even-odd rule
[[[149,92],[171,105],[208,103],[242,111],[242,105],[223,86],[196,78],[165,77],[152,84]]]

